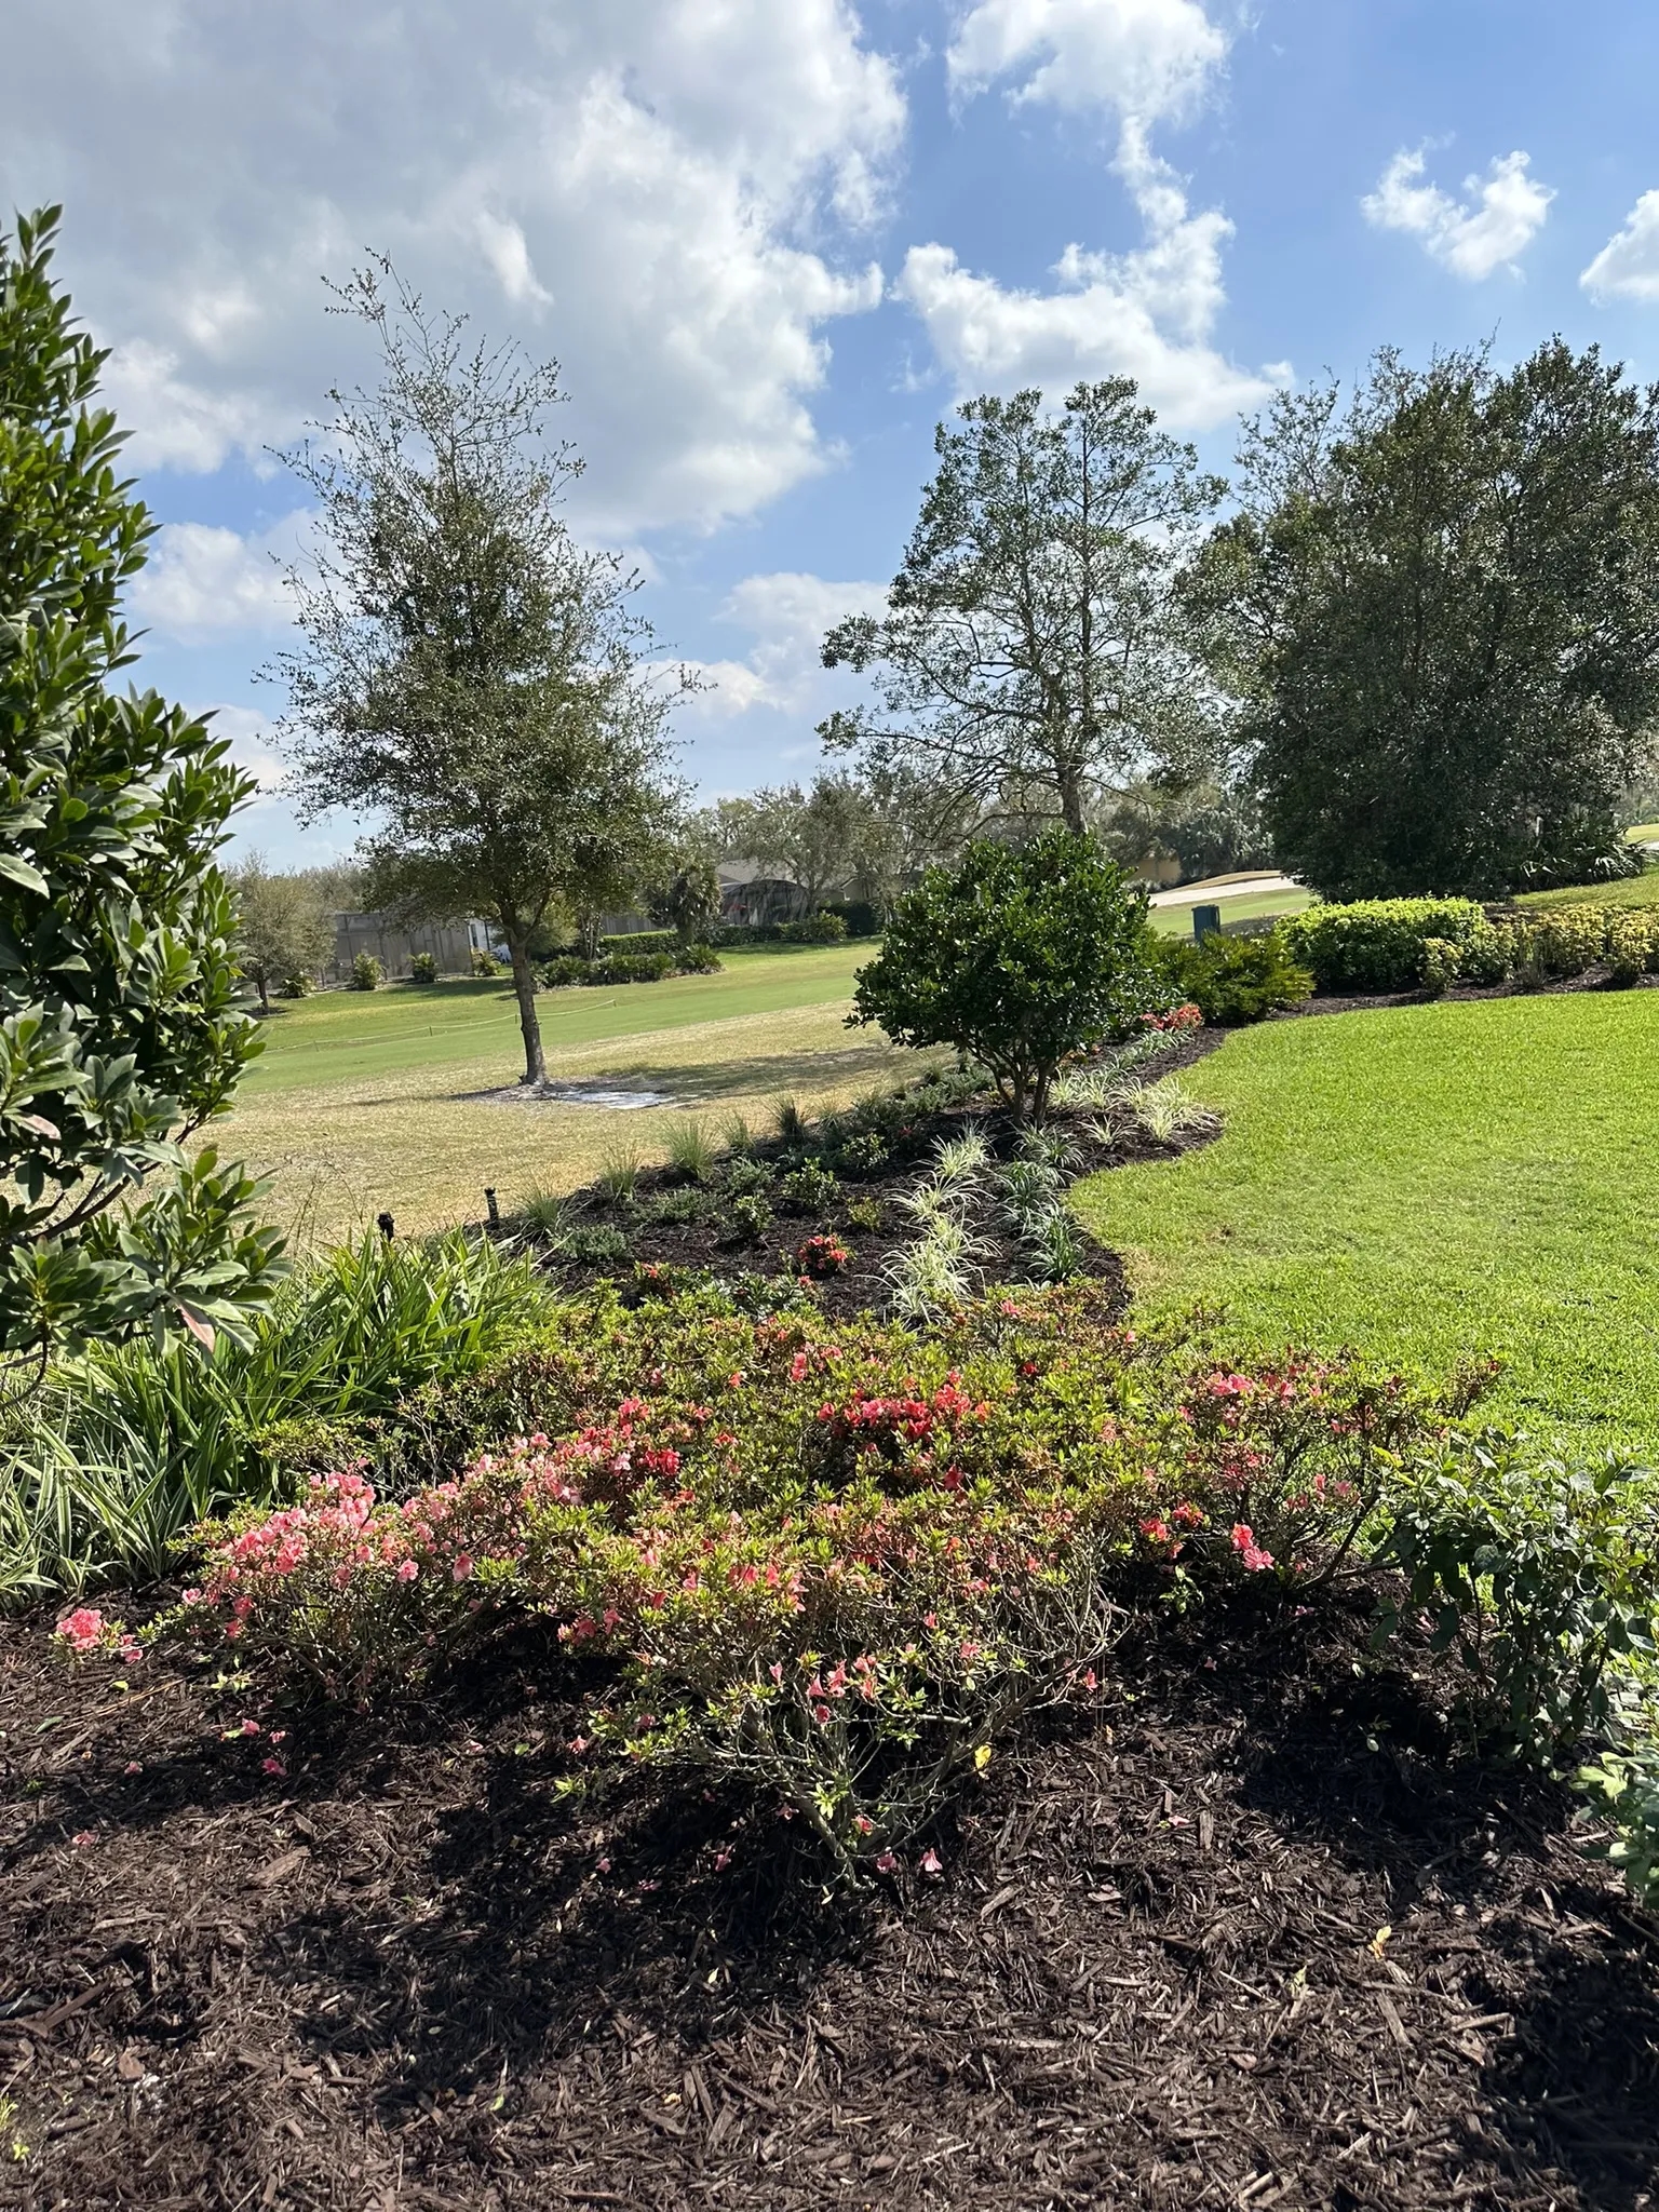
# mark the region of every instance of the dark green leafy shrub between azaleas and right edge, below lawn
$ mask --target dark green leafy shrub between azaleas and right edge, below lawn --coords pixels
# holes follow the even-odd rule
[[[1455,1442],[1389,1500],[1380,1553],[1455,1650],[1478,1719],[1511,1750],[1557,1759],[1610,1717],[1608,1668],[1652,1652],[1659,1486],[1619,1458],[1593,1467],[1513,1442]]]

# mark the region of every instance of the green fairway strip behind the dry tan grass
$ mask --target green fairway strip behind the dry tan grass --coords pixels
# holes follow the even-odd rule
[[[719,975],[672,975],[668,982],[575,984],[542,991],[542,1040],[549,1055],[639,1031],[726,1022],[748,1013],[821,1006],[852,995],[852,973],[874,958],[874,945],[812,945],[779,951],[721,953]],[[383,991],[321,991],[272,1006],[265,1051],[243,1097],[314,1084],[361,1082],[369,1075],[440,1068],[500,1055],[500,1082],[522,1073],[518,1002],[509,982],[387,984]]]

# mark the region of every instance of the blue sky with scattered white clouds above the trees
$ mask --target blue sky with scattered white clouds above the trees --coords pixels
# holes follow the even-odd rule
[[[560,358],[575,526],[628,549],[708,792],[810,774],[978,389],[1137,376],[1225,467],[1241,407],[1383,343],[1551,332],[1659,374],[1644,0],[22,0],[0,195],[60,268],[164,520],[142,675],[219,708],[301,834],[254,681],[303,555],[292,442],[363,374],[321,276],[387,250]],[[1646,199],[1644,195],[1652,195]]]

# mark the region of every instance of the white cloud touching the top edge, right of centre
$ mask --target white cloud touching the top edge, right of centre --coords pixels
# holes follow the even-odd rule
[[[962,93],[1024,73],[1015,100],[1157,122],[1192,108],[1225,55],[1225,33],[1199,0],[978,0],[958,24],[949,71]]]

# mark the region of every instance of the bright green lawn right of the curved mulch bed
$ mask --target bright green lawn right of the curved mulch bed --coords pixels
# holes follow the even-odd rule
[[[1077,1190],[1168,1318],[1345,1345],[1582,1447],[1659,1447],[1659,991],[1471,1000],[1241,1031],[1188,1077],[1225,1133]]]

